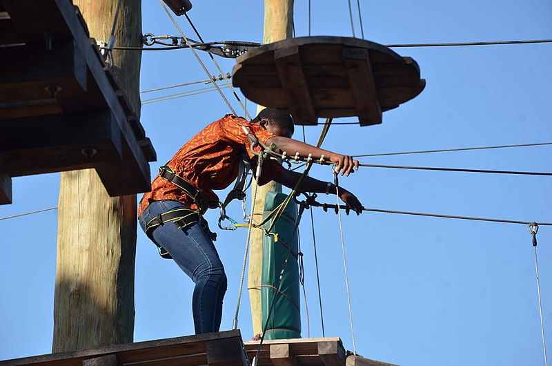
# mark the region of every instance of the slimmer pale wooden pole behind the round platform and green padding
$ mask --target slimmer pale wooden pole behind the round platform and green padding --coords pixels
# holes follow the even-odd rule
[[[294,0],[264,0],[264,44],[281,41],[293,37],[293,1]],[[264,106],[257,106],[257,113]],[[253,182],[256,184],[256,182]],[[253,186],[252,191],[255,189]],[[282,185],[270,182],[257,187],[257,200],[254,203],[254,212],[264,211],[264,198],[269,191],[282,192]],[[253,197],[253,195],[252,195]],[[262,333],[261,312],[261,275],[263,263],[263,233],[255,230],[251,233],[250,258],[248,270],[249,299],[251,303],[251,317],[253,318],[253,333]]]

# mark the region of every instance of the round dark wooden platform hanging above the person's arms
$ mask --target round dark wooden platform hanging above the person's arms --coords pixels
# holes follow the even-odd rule
[[[236,59],[233,85],[262,106],[285,110],[295,124],[358,116],[382,123],[382,112],[424,90],[410,57],[364,39],[300,37],[266,44]]]

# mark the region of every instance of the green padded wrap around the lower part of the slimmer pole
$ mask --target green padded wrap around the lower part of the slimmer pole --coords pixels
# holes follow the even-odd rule
[[[264,203],[264,211],[273,211],[286,199],[284,193],[268,192]],[[266,222],[268,228],[273,219]],[[290,202],[284,213],[273,227],[273,233],[277,233],[278,241],[274,235],[263,237],[262,258],[262,287],[261,309],[262,324],[267,324],[266,318],[270,311],[273,298],[277,293],[279,276],[284,267],[288,254],[288,246],[291,253],[286,264],[286,270],[280,284],[280,293],[277,296],[274,308],[268,319],[265,329],[265,339],[290,339],[301,338],[301,312],[299,304],[299,264],[297,263],[297,247],[299,235],[295,229],[297,220],[297,205]],[[294,235],[295,234],[295,235]]]

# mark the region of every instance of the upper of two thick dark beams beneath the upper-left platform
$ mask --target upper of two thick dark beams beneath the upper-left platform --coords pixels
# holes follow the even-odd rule
[[[57,96],[86,91],[86,59],[72,40],[0,48],[0,103],[52,97],[47,86],[60,86]]]

